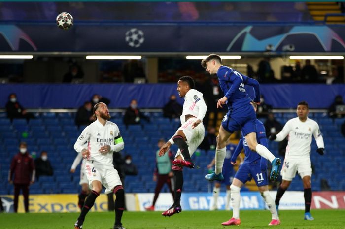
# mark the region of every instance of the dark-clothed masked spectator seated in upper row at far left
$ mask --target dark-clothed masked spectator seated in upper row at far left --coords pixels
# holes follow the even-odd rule
[[[29,119],[35,118],[35,116],[32,113],[28,113],[24,107],[22,107],[18,100],[17,95],[15,93],[11,93],[8,96],[8,101],[6,103],[6,112],[7,112],[7,118],[11,119]]]

